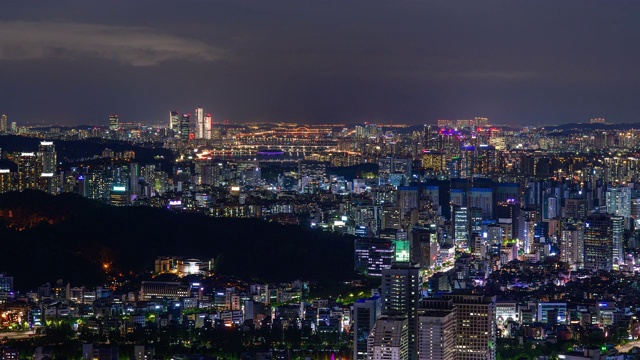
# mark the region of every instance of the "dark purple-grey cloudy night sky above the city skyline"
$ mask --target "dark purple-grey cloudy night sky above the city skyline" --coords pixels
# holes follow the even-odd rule
[[[640,121],[640,1],[2,0],[22,124]]]

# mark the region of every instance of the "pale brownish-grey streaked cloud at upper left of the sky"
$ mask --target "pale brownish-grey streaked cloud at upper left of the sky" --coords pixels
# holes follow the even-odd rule
[[[99,58],[152,66],[169,60],[214,61],[225,56],[223,50],[201,41],[140,27],[7,22],[0,24],[0,33],[0,61]]]

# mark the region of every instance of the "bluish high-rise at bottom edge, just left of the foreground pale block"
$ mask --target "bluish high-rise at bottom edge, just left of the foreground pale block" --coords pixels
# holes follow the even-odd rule
[[[380,317],[381,306],[379,296],[359,299],[353,303],[353,358],[355,360],[367,359],[367,339],[376,320]]]

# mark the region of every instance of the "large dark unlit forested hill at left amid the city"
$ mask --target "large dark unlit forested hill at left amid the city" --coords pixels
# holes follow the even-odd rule
[[[0,272],[18,289],[63,279],[104,280],[103,262],[151,271],[157,256],[215,258],[217,272],[264,281],[340,280],[353,274],[353,240],[258,219],[222,219],[149,207],[110,207],[75,194],[0,195]]]

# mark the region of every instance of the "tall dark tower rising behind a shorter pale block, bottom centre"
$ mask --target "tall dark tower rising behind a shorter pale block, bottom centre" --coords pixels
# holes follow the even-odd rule
[[[417,359],[418,305],[422,278],[419,265],[394,263],[382,271],[382,313],[406,316],[409,326],[409,359]]]

